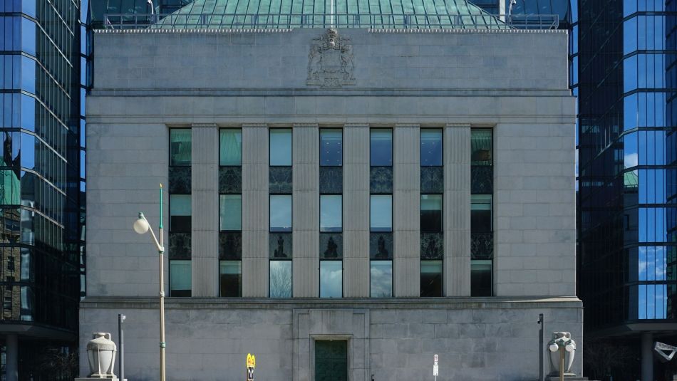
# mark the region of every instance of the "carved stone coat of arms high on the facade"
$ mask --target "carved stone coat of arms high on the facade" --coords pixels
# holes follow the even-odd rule
[[[323,88],[355,85],[350,38],[338,36],[336,29],[329,28],[324,35],[313,39],[308,54],[306,85]]]

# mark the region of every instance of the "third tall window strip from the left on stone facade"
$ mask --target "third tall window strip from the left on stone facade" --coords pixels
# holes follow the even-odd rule
[[[271,129],[269,173],[269,296],[291,298],[291,129]]]

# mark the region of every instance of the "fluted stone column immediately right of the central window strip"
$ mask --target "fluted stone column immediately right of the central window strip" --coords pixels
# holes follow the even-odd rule
[[[343,296],[369,296],[369,125],[343,126]]]

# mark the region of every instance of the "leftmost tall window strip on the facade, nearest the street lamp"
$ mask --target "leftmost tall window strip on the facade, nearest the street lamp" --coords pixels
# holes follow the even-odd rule
[[[191,130],[169,131],[169,276],[170,296],[191,294]]]

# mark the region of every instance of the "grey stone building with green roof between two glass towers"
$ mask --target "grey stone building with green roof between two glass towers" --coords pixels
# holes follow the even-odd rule
[[[126,375],[155,379],[157,254],[131,224],[157,229],[158,183],[170,379],[255,353],[264,380],[413,380],[437,353],[450,379],[528,380],[539,313],[582,340],[566,33],[465,0],[236,3],[94,33],[81,353],[133,310]]]

